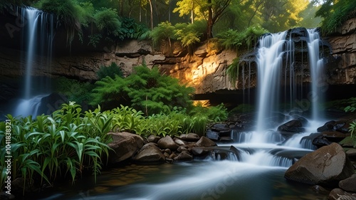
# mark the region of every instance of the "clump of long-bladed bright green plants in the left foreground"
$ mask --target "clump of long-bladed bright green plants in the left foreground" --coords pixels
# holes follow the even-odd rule
[[[100,112],[81,112],[75,102],[63,104],[61,110],[36,119],[30,115],[19,119],[7,115],[11,122],[11,178],[25,182],[51,184],[58,177],[70,177],[92,170],[100,172],[103,156],[108,156],[107,133],[112,128],[111,116]],[[7,122],[7,121],[6,121]],[[1,178],[6,170],[5,122],[0,122]],[[1,181],[1,189],[4,181]]]

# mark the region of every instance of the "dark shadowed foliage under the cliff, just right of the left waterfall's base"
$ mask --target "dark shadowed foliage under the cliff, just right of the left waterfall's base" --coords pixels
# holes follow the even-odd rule
[[[91,101],[90,91],[95,86],[92,83],[64,77],[56,78],[53,82],[53,91],[66,95],[68,100],[78,103]]]

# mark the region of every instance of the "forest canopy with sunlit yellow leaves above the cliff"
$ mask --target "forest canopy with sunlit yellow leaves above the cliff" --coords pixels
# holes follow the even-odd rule
[[[95,46],[102,40],[147,39],[162,26],[174,27],[172,35],[191,46],[226,31],[261,27],[271,33],[303,26],[321,26],[323,33],[355,16],[353,0],[6,0],[54,13],[68,31]],[[198,26],[192,26],[198,23]],[[171,27],[172,26],[172,27]],[[179,27],[181,29],[179,29]],[[83,36],[84,31],[87,36]],[[89,30],[89,31],[88,31]],[[167,30],[169,31],[169,30]],[[89,33],[88,33],[89,32]],[[156,34],[157,35],[157,34]],[[187,41],[187,37],[194,40]],[[83,38],[85,37],[85,38]],[[152,39],[152,38],[151,38]]]

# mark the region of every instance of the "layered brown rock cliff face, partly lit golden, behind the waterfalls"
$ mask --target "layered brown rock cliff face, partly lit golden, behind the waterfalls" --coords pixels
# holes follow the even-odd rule
[[[355,85],[356,19],[347,21],[337,35],[326,39],[332,47],[327,65],[328,83],[330,85]],[[16,48],[0,46],[0,76],[21,77],[25,73],[24,60],[21,59],[24,54]],[[125,41],[116,46],[104,46],[96,51],[76,51],[76,53],[71,53],[71,56],[55,55],[51,60],[51,68],[48,67],[47,62],[43,61],[46,59],[37,57],[34,60],[32,74],[51,77],[63,75],[81,80],[96,80],[95,73],[102,65],[115,62],[120,65],[124,75],[128,75],[132,72],[132,67],[145,61],[149,67],[158,65],[162,73],[179,78],[181,83],[194,87],[197,95],[239,93],[244,88],[254,88],[256,66],[253,64],[248,67],[250,68],[248,72],[247,65],[241,67],[238,82],[236,85],[231,85],[226,75],[226,67],[233,62],[234,58],[236,58],[235,51],[213,51],[207,43],[202,43],[193,53],[188,53],[179,43],[173,43],[172,47],[163,44],[157,50],[152,48],[148,41]],[[296,60],[296,68],[306,71],[300,74],[302,83],[310,82],[308,70],[306,70],[308,63],[305,63],[305,60],[308,59]],[[247,73],[251,75],[250,80],[247,80]],[[248,85],[246,85],[247,82],[249,82]]]

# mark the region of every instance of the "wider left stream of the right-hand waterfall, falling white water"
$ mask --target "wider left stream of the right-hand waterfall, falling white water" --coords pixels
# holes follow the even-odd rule
[[[266,118],[276,111],[281,88],[281,69],[286,41],[286,31],[268,34],[259,40],[258,70],[258,119],[257,131],[266,129]]]

